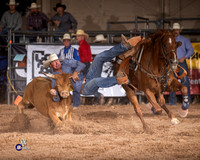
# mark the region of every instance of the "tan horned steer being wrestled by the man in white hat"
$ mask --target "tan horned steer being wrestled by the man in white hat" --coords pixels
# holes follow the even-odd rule
[[[61,100],[54,102],[50,94],[51,80],[43,77],[34,78],[25,88],[22,101],[18,105],[20,113],[26,105],[32,105],[43,114],[50,117],[55,125],[60,125],[61,120],[67,119],[71,121],[72,112],[72,96],[70,90],[72,83],[70,80],[71,74],[61,73],[57,75],[48,75],[47,77],[56,80],[54,88],[58,91]]]

